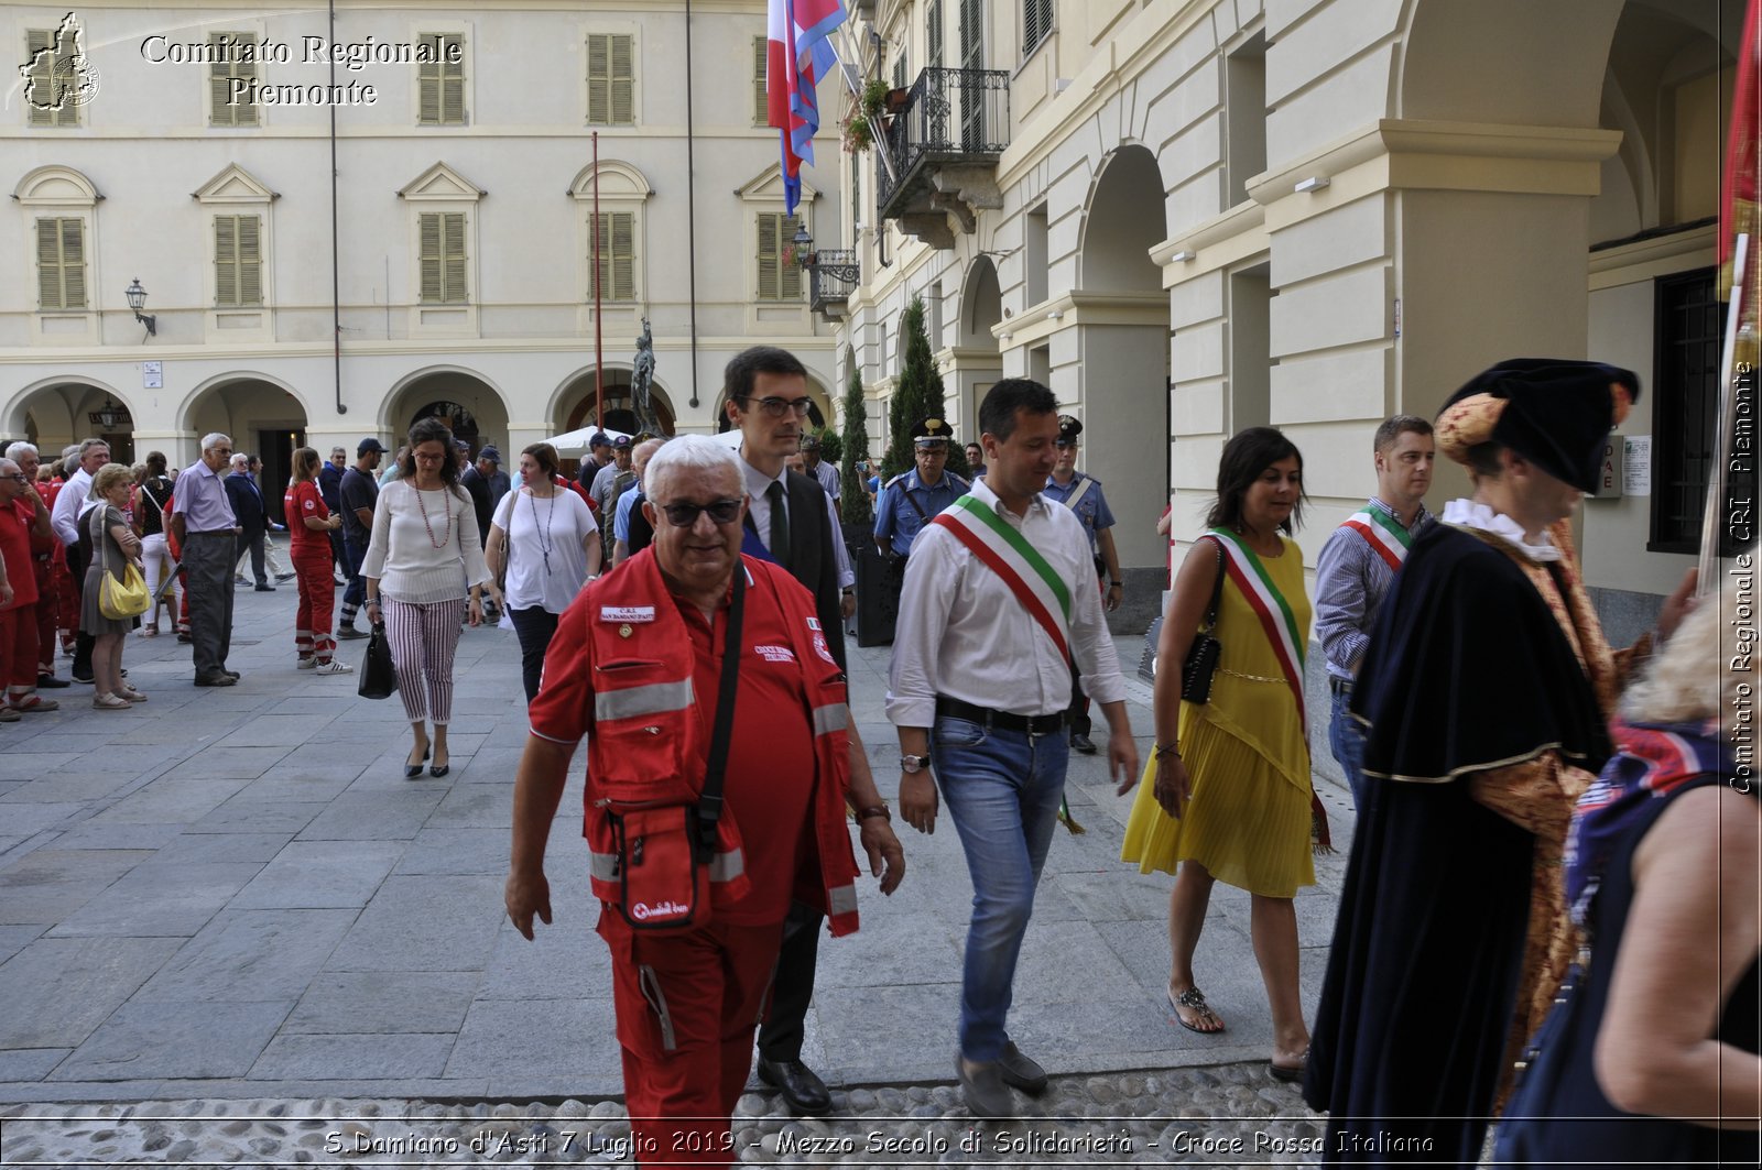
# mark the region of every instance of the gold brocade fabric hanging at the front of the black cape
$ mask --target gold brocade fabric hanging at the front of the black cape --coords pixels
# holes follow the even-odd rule
[[[1505,1040],[1505,1061],[1494,1112],[1505,1108],[1512,1073],[1529,1036],[1554,1004],[1554,994],[1572,957],[1579,950],[1579,932],[1566,918],[1566,886],[1561,858],[1572,807],[1591,782],[1591,774],[1549,751],[1508,768],[1477,772],[1470,795],[1507,821],[1535,833],[1536,848],[1529,881],[1529,930],[1524,939],[1522,976],[1517,1003]]]

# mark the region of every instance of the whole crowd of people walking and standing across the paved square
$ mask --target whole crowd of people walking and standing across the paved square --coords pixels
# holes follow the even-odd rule
[[[819,936],[858,929],[860,860],[883,895],[907,869],[849,715],[856,576],[807,370],[752,347],[724,396],[738,446],[596,435],[566,476],[537,442],[515,483],[493,446],[472,460],[423,419],[381,476],[375,439],[351,465],[298,449],[284,495],[294,668],[347,673],[337,638],[366,636],[365,608],[411,724],[405,775],[448,775],[462,629],[493,608],[515,631],[530,735],[506,909],[529,939],[552,918],[546,846],[585,740],[587,870],[645,1163],[729,1161],[754,1055],[793,1110],[832,1108],[803,1061]],[[1721,620],[1736,599],[1697,608],[1690,574],[1653,634],[1612,650],[1568,527],[1637,396],[1616,367],[1507,361],[1434,423],[1387,419],[1369,437],[1376,493],[1323,541],[1313,603],[1302,453],[1270,426],[1233,435],[1172,581],[1142,770],[1107,631],[1126,581],[1103,486],[1077,470],[1082,423],[1034,381],[994,384],[973,479],[946,470],[944,419],[914,425],[914,465],[876,485],[869,539],[902,566],[885,703],[897,812],[930,833],[946,809],[973,881],[953,1071],[976,1117],[1047,1089],[1010,1033],[1013,983],[1070,754],[1105,752],[1117,791],[1136,788],[1121,860],[1173,874],[1170,1022],[1228,1031],[1200,990],[1200,941],[1214,885],[1246,890],[1265,1071],[1329,1112],[1325,1163],[1475,1165],[1501,1108],[1514,1159],[1633,1142],[1660,1165],[1755,1158],[1757,897],[1741,878],[1762,851],[1718,724],[1758,682],[1753,647]],[[241,458],[226,435],[201,448],[171,476],[88,441],[37,486],[35,449],[5,449],[0,721],[56,707],[39,687],[67,685],[58,643],[97,708],[146,700],[122,668],[136,620],[100,604],[132,564],[162,596],[183,578],[171,613],[196,685],[236,684],[231,574],[250,557],[273,589],[254,544],[266,509],[250,460],[248,483],[224,474]],[[1438,455],[1471,493],[1433,515]],[[143,634],[157,622],[155,604]],[[1357,811],[1313,1029],[1295,895],[1332,835],[1311,633]],[[1746,1133],[1718,1129],[1746,1108]]]

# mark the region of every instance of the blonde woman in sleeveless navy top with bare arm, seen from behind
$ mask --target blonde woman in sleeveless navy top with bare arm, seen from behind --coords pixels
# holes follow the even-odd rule
[[[1566,844],[1588,953],[1535,1038],[1498,1165],[1757,1165],[1762,821],[1732,752],[1758,680],[1746,608],[1736,581],[1702,603],[1621,701]]]

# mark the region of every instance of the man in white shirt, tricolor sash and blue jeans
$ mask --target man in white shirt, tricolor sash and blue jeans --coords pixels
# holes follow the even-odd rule
[[[973,878],[962,1094],[978,1117],[1010,1117],[1011,1087],[1047,1087],[1006,1018],[1064,796],[1073,664],[1107,715],[1122,793],[1136,782],[1138,749],[1089,537],[1041,493],[1057,455],[1057,400],[1040,382],[1004,379],[980,404],[980,430],[985,479],[925,525],[906,564],[886,714],[902,752],[900,816],[934,832],[939,791]]]

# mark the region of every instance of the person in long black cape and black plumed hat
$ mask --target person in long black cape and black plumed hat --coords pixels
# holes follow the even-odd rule
[[[1415,539],[1353,689],[1367,800],[1304,1085],[1325,1163],[1475,1165],[1566,971],[1566,825],[1651,645],[1610,652],[1566,520],[1637,398],[1630,370],[1517,358],[1438,416],[1473,497]]]

